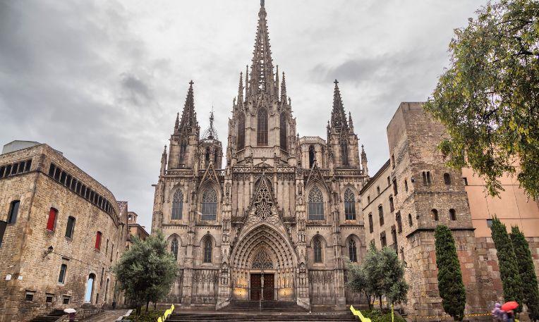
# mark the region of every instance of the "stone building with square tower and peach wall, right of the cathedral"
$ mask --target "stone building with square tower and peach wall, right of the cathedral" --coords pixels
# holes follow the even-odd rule
[[[437,288],[434,230],[447,225],[453,233],[466,286],[466,314],[484,314],[503,301],[492,216],[508,228],[519,225],[539,268],[538,203],[527,200],[514,179],[502,178],[506,190],[488,197],[471,169],[454,171],[437,149],[446,135],[423,103],[402,103],[387,126],[389,159],[361,190],[365,240],[395,249],[406,263],[406,313],[444,314]]]

